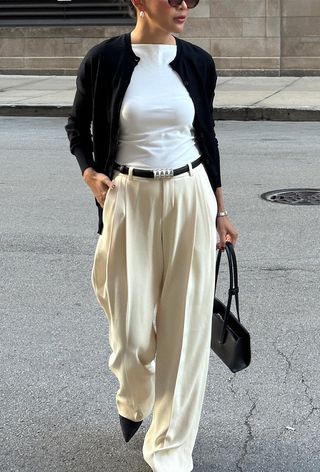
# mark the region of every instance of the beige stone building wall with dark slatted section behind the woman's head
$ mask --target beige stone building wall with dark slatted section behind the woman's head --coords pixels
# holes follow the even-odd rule
[[[73,75],[100,40],[133,29],[130,0],[0,2],[0,74]],[[319,0],[200,0],[180,37],[220,76],[320,72]]]

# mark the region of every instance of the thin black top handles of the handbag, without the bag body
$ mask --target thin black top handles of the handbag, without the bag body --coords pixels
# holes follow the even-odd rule
[[[228,290],[228,303],[226,314],[224,317],[224,325],[223,329],[226,328],[228,322],[228,316],[231,307],[232,296],[235,296],[236,300],[236,309],[237,309],[237,316],[240,323],[240,314],[239,314],[239,285],[238,285],[238,268],[237,268],[237,259],[234,252],[233,244],[230,242],[225,243],[225,250],[228,256],[228,265],[229,265],[229,290]],[[219,249],[216,261],[216,280],[215,280],[215,287],[214,287],[214,296],[216,296],[217,290],[217,280],[220,268],[220,259],[221,259],[222,250]]]

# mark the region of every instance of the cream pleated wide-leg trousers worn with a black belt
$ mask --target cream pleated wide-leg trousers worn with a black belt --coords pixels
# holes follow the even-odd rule
[[[193,470],[206,387],[216,258],[215,194],[202,164],[154,180],[116,171],[92,285],[109,322],[120,415],[152,422],[154,472]]]

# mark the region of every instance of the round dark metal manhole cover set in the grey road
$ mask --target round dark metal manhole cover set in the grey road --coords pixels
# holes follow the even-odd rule
[[[261,194],[261,198],[269,202],[287,205],[320,205],[320,189],[287,188],[273,190]]]

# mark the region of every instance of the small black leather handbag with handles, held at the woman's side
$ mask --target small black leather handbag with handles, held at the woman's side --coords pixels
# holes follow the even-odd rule
[[[216,281],[212,314],[211,349],[232,372],[248,367],[251,361],[250,334],[240,323],[238,269],[233,244],[225,243],[228,256],[230,287],[227,305],[216,298],[217,280],[220,267],[221,249],[216,261]],[[238,318],[230,311],[232,296],[235,296]]]

